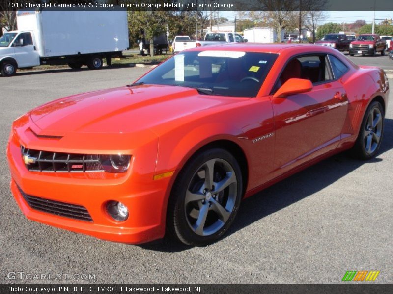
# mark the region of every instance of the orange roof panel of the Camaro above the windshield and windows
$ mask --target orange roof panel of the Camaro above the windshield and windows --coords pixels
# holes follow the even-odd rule
[[[200,46],[187,51],[206,51],[206,50],[228,50],[228,51],[245,51],[245,52],[264,52],[264,53],[279,53],[289,49],[302,47],[305,51],[324,50],[324,46],[314,44],[298,44],[298,43],[226,43],[220,45]],[[322,48],[321,48],[322,47]]]

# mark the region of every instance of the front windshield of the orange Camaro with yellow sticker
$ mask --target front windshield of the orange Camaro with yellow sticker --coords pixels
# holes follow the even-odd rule
[[[207,95],[255,97],[277,56],[221,50],[182,52],[138,82],[191,87]]]

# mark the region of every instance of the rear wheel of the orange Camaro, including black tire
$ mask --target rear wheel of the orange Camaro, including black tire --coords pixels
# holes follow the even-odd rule
[[[370,114],[372,113],[372,121],[373,125],[376,122],[375,114],[380,114],[380,125],[375,126],[372,130],[370,130]],[[356,139],[355,145],[352,147],[351,155],[358,159],[367,160],[374,157],[379,148],[381,147],[381,142],[384,133],[384,118],[385,113],[383,107],[380,102],[373,101],[367,107],[365,112],[365,116],[363,118],[362,124],[360,126],[359,135]],[[379,121],[378,121],[379,123]],[[370,139],[368,139],[370,137]],[[376,139],[378,138],[378,142]],[[367,148],[368,140],[370,140],[370,148]]]

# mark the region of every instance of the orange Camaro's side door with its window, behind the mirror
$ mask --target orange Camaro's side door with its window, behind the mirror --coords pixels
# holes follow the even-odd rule
[[[271,96],[276,123],[275,168],[278,173],[335,149],[347,114],[345,90],[334,77],[326,54],[293,58],[286,64],[278,84],[289,78],[309,79],[313,89],[285,98]]]

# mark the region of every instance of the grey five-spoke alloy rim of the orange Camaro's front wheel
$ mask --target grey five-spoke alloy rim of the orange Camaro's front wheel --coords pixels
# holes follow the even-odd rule
[[[233,167],[215,158],[202,164],[188,185],[184,209],[189,227],[200,236],[218,232],[235,207],[237,178]]]

